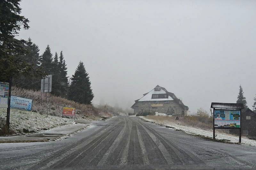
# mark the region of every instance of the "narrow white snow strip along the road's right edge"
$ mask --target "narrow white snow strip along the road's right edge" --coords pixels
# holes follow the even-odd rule
[[[212,131],[210,131],[210,130],[203,130],[200,128],[182,126],[182,125],[178,125],[173,122],[156,121],[156,120],[152,120],[152,119],[147,119],[147,117],[145,117],[145,116],[139,116],[139,117],[144,119],[145,121],[155,122],[157,124],[161,124],[161,125],[170,127],[170,129],[180,130],[180,131],[183,131],[190,135],[212,138]],[[216,132],[216,133],[217,133],[217,136],[215,137],[216,139],[219,139],[219,140],[227,139],[227,140],[230,140],[230,142],[232,142],[232,143],[238,143],[238,141],[239,141],[238,136],[233,136],[230,134],[220,133],[220,132]],[[256,141],[242,136],[241,144],[256,146]]]

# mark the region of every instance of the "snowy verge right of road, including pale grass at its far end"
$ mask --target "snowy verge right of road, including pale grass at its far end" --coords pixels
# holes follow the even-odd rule
[[[210,130],[210,129],[209,130],[201,129],[201,128],[198,128],[198,127],[196,128],[196,127],[192,127],[192,126],[189,126],[189,125],[184,125],[184,124],[181,123],[181,121],[173,120],[172,117],[140,116],[140,118],[144,119],[145,121],[155,122],[157,124],[161,124],[161,125],[164,125],[164,126],[169,126],[169,127],[171,127],[170,129],[180,130],[180,131],[183,131],[183,132],[185,132],[187,134],[190,134],[190,135],[212,138],[212,130]],[[232,142],[232,143],[238,143],[238,141],[239,141],[238,136],[223,133],[222,131],[217,131],[217,129],[215,130],[215,132],[217,134],[216,139],[219,139],[219,140],[227,139],[227,140],[230,140],[230,142]],[[247,137],[242,137],[242,144],[256,146],[256,141],[248,139]]]

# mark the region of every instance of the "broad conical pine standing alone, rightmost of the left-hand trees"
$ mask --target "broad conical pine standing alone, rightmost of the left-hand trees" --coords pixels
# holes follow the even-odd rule
[[[79,62],[75,74],[72,75],[72,82],[68,90],[68,99],[83,104],[91,104],[94,97],[91,89],[91,82],[84,63]]]

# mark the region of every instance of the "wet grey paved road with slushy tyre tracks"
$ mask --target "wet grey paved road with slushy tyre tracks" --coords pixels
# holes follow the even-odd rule
[[[116,116],[68,139],[0,144],[0,169],[256,168],[256,147],[212,142]]]

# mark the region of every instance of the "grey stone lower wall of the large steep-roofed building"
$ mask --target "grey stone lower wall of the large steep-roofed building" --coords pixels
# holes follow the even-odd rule
[[[163,107],[151,107],[151,104],[163,104]],[[134,105],[134,113],[137,114],[141,111],[141,108],[143,108],[143,111],[153,111],[158,113],[166,113],[168,107],[172,107],[176,114],[181,114],[181,112],[184,110],[178,103],[176,103],[174,100],[170,100],[169,104],[164,104],[164,101],[137,101]]]

